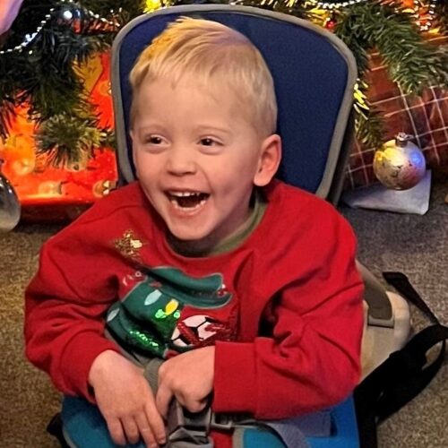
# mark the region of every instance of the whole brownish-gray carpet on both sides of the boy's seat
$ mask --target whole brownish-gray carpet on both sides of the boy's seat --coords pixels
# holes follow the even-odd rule
[[[433,186],[425,216],[383,211],[342,213],[355,228],[359,259],[377,275],[403,271],[444,324],[448,324],[448,179]],[[51,448],[48,420],[59,406],[59,394],[46,375],[23,357],[22,294],[38,263],[39,247],[58,225],[24,225],[0,235],[0,447]],[[426,320],[413,313],[421,328]],[[414,401],[380,426],[380,448],[448,447],[448,361]]]

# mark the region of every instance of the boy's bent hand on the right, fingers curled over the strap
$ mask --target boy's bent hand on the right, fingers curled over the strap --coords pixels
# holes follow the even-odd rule
[[[156,396],[159,413],[167,417],[173,397],[190,412],[199,412],[213,390],[214,347],[202,347],[177,355],[159,367]]]

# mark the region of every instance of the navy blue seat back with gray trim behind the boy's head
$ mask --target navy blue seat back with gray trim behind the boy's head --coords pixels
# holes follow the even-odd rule
[[[168,22],[182,15],[222,22],[258,47],[270,67],[279,105],[278,133],[285,182],[327,198],[340,183],[338,169],[352,107],[356,64],[349,49],[330,32],[296,17],[232,5],[186,5],[161,9],[128,23],[112,52],[112,89],[119,171],[134,180],[129,110],[129,73],[142,52]]]

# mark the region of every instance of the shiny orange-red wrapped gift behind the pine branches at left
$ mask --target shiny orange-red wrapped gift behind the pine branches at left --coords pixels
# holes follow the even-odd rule
[[[108,53],[96,55],[81,69],[102,128],[112,128],[114,122],[109,61]],[[35,132],[27,108],[17,108],[9,136],[0,142],[2,171],[22,204],[22,220],[72,220],[114,188],[117,170],[112,148],[95,149],[90,157],[56,168],[36,151]]]

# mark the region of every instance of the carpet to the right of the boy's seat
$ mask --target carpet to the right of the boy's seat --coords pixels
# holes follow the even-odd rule
[[[421,297],[448,325],[448,176],[435,176],[423,216],[340,207],[358,235],[358,258],[381,280],[404,272]],[[385,285],[385,282],[383,282]],[[428,324],[412,309],[416,330]],[[380,426],[380,448],[448,447],[448,360],[432,383]]]

